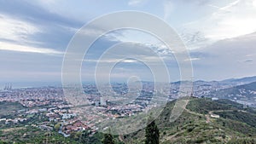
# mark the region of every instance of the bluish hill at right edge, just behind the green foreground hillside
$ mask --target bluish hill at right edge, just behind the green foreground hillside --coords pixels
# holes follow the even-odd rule
[[[238,80],[240,81],[240,80]],[[247,81],[242,80],[243,82]],[[255,101],[256,100],[256,82],[250,84],[242,84],[228,89],[219,89],[212,91],[209,96],[216,96],[224,99]]]

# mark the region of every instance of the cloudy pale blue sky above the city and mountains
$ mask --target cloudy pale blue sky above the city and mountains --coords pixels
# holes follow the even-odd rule
[[[189,51],[195,79],[256,75],[256,0],[0,0],[0,83],[61,82],[73,35],[102,14],[124,10],[153,14],[172,26]],[[146,62],[154,62],[155,55],[148,55],[153,49],[166,62],[171,80],[180,78],[172,50],[148,33],[125,29],[99,37],[90,47],[81,66],[82,80],[93,81],[101,55],[125,42],[131,43],[119,49],[134,47],[130,52],[143,54]],[[124,55],[122,50],[113,53],[104,62]],[[143,61],[119,61],[110,76],[99,72],[97,77],[152,80],[154,74]]]

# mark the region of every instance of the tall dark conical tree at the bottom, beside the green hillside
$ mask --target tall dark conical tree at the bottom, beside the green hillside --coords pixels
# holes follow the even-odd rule
[[[146,127],[146,144],[159,144],[159,129],[157,125],[153,122],[148,124]]]

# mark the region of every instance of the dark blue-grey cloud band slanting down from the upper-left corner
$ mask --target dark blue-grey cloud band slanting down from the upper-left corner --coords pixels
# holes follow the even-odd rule
[[[38,5],[26,0],[5,1],[0,0],[0,12],[9,14],[12,17],[20,20],[30,21],[37,25],[53,24],[61,26],[80,27],[83,22],[67,18],[59,14],[49,12]]]

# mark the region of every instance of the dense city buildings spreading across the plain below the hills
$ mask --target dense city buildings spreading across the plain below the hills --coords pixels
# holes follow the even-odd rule
[[[243,82],[243,84],[247,83]],[[162,89],[165,94],[164,101],[177,99],[179,84],[178,82],[172,83]],[[215,91],[230,89],[240,84],[241,82],[227,84],[224,82],[196,81],[190,95],[194,97],[208,96],[214,101],[221,98],[214,96]],[[109,97],[103,99],[101,93],[97,90],[96,84],[84,84],[84,95],[90,102],[89,106],[78,109],[73,108],[74,106],[67,101],[61,87],[12,89],[10,84],[6,85],[0,92],[0,101],[19,103],[22,108],[15,112],[3,114],[0,118],[1,124],[31,124],[42,130],[57,129],[64,136],[83,130],[90,130],[90,135],[94,135],[98,130],[96,123],[106,118],[125,118],[143,112],[150,107],[150,101],[154,99],[155,94],[154,83],[143,83],[143,89],[140,92],[137,90],[130,92],[130,95],[135,96],[131,97],[133,99],[128,97],[129,102],[127,102],[127,99],[121,98],[129,92],[127,85],[116,83],[112,85],[115,96],[112,99]],[[168,89],[170,89],[169,92]],[[255,93],[256,91],[250,91],[252,95],[255,95]],[[158,97],[158,99],[160,98]],[[122,103],[124,100],[127,102],[125,105]],[[245,107],[255,106],[255,99],[249,99],[246,95],[233,95],[230,100],[240,102]],[[86,117],[84,117],[84,114]],[[32,118],[39,118],[38,122],[28,123]]]

